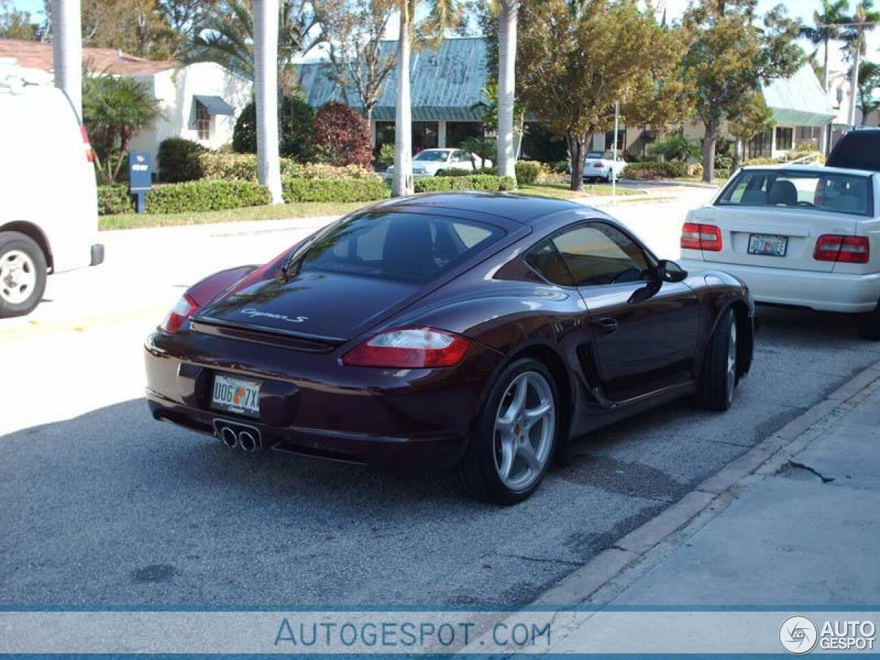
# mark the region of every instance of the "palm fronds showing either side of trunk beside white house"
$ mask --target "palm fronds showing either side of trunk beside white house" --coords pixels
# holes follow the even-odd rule
[[[281,0],[276,21],[278,67],[297,55],[305,55],[324,40],[320,22],[306,0]],[[202,19],[184,59],[186,62],[218,62],[244,76],[253,76],[253,11],[246,0],[213,4]]]

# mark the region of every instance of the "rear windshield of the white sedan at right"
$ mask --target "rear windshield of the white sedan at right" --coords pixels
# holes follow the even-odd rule
[[[746,170],[730,181],[718,206],[773,206],[872,216],[871,180],[860,174]]]

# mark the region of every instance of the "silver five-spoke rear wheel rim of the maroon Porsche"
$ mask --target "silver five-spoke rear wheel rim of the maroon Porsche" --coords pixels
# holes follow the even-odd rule
[[[532,487],[553,449],[556,404],[538,371],[525,371],[508,385],[495,414],[495,471],[510,490]]]

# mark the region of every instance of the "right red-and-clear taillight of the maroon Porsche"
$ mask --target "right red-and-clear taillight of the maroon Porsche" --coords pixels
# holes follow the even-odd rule
[[[432,369],[451,367],[466,355],[473,341],[431,327],[406,327],[377,334],[342,356],[353,367]]]

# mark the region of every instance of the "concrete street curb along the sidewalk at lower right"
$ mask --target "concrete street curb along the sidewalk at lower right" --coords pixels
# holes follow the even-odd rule
[[[704,524],[708,522],[710,517],[726,508],[737,490],[753,479],[752,475],[779,472],[793,456],[825,430],[819,422],[846,414],[854,407],[850,405],[850,400],[857,398],[877,379],[880,379],[880,362],[862,370],[825,397],[825,400],[808,408],[742,456],[703,480],[678,502],[617,540],[612,547],[577,568],[561,582],[545,590],[529,606],[537,609],[561,609],[583,604],[636,562],[645,559],[650,551],[664,544],[667,539],[671,540],[673,535],[683,530],[695,518],[700,517]],[[671,547],[664,547],[663,553],[668,554],[670,549]]]

